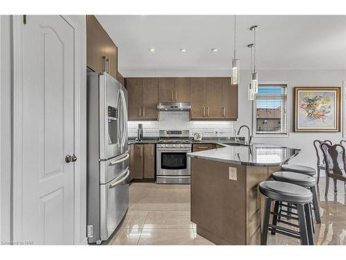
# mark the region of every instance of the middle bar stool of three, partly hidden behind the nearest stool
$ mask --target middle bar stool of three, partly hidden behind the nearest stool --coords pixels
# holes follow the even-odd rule
[[[316,180],[314,177],[292,171],[277,171],[271,175],[273,180],[279,182],[289,182],[307,188],[312,193],[313,211],[315,211],[316,223],[321,223],[320,208],[318,207],[318,198],[316,194]]]

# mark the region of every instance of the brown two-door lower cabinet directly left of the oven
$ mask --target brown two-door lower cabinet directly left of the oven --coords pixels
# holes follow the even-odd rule
[[[154,179],[155,145],[130,145],[130,180]]]

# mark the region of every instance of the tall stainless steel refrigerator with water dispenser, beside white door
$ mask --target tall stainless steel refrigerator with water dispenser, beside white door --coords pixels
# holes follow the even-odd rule
[[[87,76],[87,236],[101,243],[129,206],[127,90],[108,73]]]

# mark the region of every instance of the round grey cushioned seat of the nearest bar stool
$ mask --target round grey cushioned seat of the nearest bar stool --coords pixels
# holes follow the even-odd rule
[[[288,182],[266,181],[260,183],[260,192],[273,200],[305,204],[312,200],[311,191]]]

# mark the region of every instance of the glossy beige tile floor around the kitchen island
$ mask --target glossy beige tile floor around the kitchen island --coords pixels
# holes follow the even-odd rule
[[[346,187],[338,182],[334,196],[333,184],[325,199],[325,178],[320,180],[321,224],[316,224],[315,244],[346,244]],[[129,210],[120,227],[111,236],[109,245],[213,245],[199,236],[190,221],[190,185],[133,183],[129,188]],[[299,245],[298,239],[268,234],[270,245]]]

